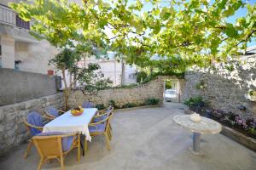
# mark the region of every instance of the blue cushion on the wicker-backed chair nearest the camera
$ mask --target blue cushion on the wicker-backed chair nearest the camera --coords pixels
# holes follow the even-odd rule
[[[52,135],[61,135],[61,134],[66,134],[66,133],[61,133],[61,132],[38,133],[36,136],[52,136]],[[62,150],[64,152],[67,150],[70,150],[73,144],[73,136],[62,138],[61,143],[62,143]]]

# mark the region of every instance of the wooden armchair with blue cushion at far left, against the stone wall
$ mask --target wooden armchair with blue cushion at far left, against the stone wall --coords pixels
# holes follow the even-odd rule
[[[31,134],[33,137],[34,135],[41,133],[43,131],[43,122],[42,122],[42,117],[46,119],[50,119],[48,116],[42,116],[39,114],[37,111],[31,111],[27,114],[26,119],[24,120],[25,126],[27,131]],[[27,154],[32,146],[32,139],[29,139],[29,143],[26,148],[25,152],[25,159],[27,157]]]

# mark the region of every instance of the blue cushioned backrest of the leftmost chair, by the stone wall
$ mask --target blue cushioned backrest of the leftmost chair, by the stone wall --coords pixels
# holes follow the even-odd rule
[[[26,116],[26,122],[33,126],[37,127],[43,127],[42,117],[37,111],[31,111]],[[37,128],[35,127],[29,127],[29,132],[32,136],[41,133]]]

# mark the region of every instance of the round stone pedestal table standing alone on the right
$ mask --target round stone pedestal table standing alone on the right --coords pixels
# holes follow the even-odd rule
[[[201,122],[192,122],[189,115],[174,116],[173,121],[193,132],[193,150],[196,154],[200,153],[201,134],[216,134],[222,128],[220,123],[203,116]]]

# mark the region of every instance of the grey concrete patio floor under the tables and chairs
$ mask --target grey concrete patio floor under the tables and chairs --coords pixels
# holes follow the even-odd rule
[[[183,114],[183,105],[165,103],[160,108],[119,111],[113,118],[112,150],[101,136],[92,139],[86,155],[76,161],[76,150],[65,159],[67,170],[129,169],[256,169],[256,153],[222,134],[203,135],[202,156],[190,150],[191,133],[172,122]],[[39,156],[34,147],[23,159],[26,144],[0,159],[1,170],[37,169]],[[60,169],[57,161],[42,169]]]

